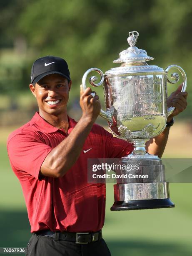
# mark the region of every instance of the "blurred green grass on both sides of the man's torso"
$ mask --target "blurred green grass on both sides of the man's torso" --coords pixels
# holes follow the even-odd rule
[[[22,189],[4,143],[0,152],[0,247],[26,247],[30,225]],[[192,184],[170,184],[175,208],[111,212],[113,184],[107,184],[103,236],[112,256],[191,256],[191,192]]]

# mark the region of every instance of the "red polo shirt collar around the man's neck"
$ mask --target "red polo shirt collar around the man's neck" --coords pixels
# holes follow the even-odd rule
[[[75,125],[77,124],[77,122],[74,119],[70,118],[68,115],[67,115],[67,118],[68,118],[68,122],[69,122],[69,128],[68,128],[67,133],[70,133],[70,131],[72,131],[72,128],[74,128]],[[59,128],[51,125],[47,121],[45,121],[45,119],[43,119],[40,116],[39,112],[35,113],[35,115],[30,120],[30,123],[32,125],[35,125],[35,127],[37,127],[38,130],[46,132],[46,133],[54,133],[54,132],[60,131],[60,130],[64,131],[63,129],[59,129]]]

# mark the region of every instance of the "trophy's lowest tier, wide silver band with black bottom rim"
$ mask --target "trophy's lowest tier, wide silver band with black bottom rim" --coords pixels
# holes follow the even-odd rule
[[[114,195],[111,211],[175,207],[168,182],[115,184]]]

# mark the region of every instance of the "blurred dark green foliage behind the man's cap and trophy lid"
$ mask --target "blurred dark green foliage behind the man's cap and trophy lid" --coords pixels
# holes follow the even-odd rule
[[[12,58],[7,57],[10,67],[0,58],[1,92],[8,93],[5,84],[11,84],[9,92],[27,89],[32,62],[50,54],[67,60],[72,96],[78,98],[84,72],[90,67],[104,72],[115,67],[112,61],[128,47],[126,38],[132,30],[140,33],[137,47],[155,58],[150,64],[163,68],[178,64],[188,80],[192,77],[191,0],[3,0],[0,5],[4,20],[0,25],[1,51],[13,46],[19,36],[27,45],[25,53],[17,53],[16,67]],[[14,79],[13,86],[9,81]],[[190,86],[187,91],[192,92]],[[188,109],[192,109],[191,102]]]

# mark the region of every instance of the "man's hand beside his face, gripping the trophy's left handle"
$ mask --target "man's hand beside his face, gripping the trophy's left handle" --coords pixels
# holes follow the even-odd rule
[[[82,117],[90,118],[90,120],[95,122],[101,110],[99,96],[95,95],[95,97],[92,97],[92,95],[90,95],[92,92],[90,87],[88,87],[85,92],[82,90],[82,85],[80,88],[80,106],[82,108]]]

